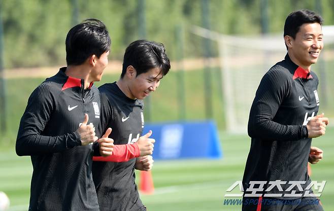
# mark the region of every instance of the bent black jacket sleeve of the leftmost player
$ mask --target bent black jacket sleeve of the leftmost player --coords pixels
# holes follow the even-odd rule
[[[42,135],[53,109],[54,98],[48,86],[42,84],[30,95],[21,118],[16,139],[17,155],[58,153],[81,145],[77,131],[58,136]]]

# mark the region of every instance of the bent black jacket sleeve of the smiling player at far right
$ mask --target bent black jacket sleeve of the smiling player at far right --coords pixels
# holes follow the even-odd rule
[[[308,136],[303,125],[283,125],[273,121],[292,83],[280,71],[266,73],[256,91],[248,121],[248,135],[262,140],[298,140]],[[288,117],[287,117],[288,118]]]

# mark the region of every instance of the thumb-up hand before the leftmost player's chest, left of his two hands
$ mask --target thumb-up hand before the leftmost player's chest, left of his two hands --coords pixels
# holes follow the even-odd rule
[[[87,125],[87,123],[88,123],[88,114],[85,114],[85,119],[77,130],[80,135],[82,146],[86,146],[97,140],[97,136],[95,136],[94,125],[93,124]]]

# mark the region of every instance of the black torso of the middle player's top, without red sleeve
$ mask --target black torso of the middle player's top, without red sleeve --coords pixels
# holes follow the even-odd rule
[[[144,127],[143,100],[128,98],[115,83],[98,87],[101,92],[101,124],[98,131],[105,133],[115,145],[133,144]],[[93,162],[93,180],[101,211],[146,210],[139,198],[135,183],[136,158],[127,162]]]

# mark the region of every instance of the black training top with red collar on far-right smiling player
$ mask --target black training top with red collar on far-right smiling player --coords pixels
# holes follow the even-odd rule
[[[298,196],[284,199],[302,197],[310,183],[307,165],[312,138],[307,138],[306,125],[318,113],[318,82],[314,72],[296,65],[288,55],[263,76],[248,121],[251,147],[243,178],[245,191],[250,181],[281,180],[286,182],[283,191],[291,186],[291,181],[304,181],[302,191],[292,189]],[[284,193],[274,187],[264,193],[292,192]]]

